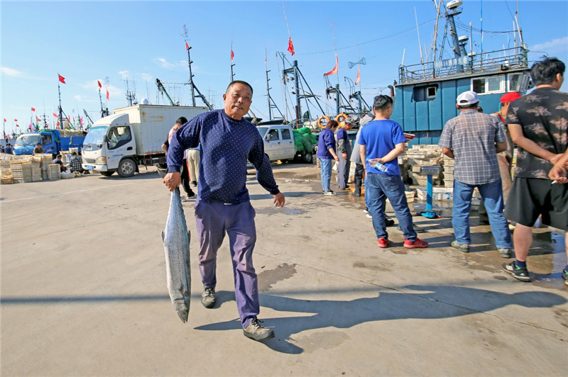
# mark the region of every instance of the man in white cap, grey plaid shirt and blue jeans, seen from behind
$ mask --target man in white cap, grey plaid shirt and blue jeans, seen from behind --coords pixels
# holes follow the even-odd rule
[[[478,106],[479,98],[474,91],[464,91],[457,96],[459,116],[446,122],[439,138],[442,153],[455,159],[452,226],[456,239],[450,245],[469,252],[469,211],[474,188],[477,188],[498,252],[501,257],[510,258],[513,242],[503,217],[503,188],[497,162],[497,153],[507,150],[507,141],[499,120],[479,113]]]

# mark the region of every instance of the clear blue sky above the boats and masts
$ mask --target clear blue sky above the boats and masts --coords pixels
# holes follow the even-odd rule
[[[513,30],[518,7],[525,44],[531,61],[546,52],[568,63],[567,1],[464,0],[459,23],[488,31]],[[284,11],[288,19],[285,21]],[[483,10],[483,13],[481,12]],[[416,11],[416,18],[415,18]],[[67,115],[83,116],[87,110],[99,118],[97,79],[108,85],[110,111],[127,106],[126,79],[135,85],[136,99],[168,103],[158,97],[156,77],[183,83],[189,79],[187,52],[182,36],[187,26],[192,46],[192,69],[197,88],[222,106],[222,94],[230,79],[231,43],[235,79],[249,81],[254,91],[252,111],[268,118],[265,51],[271,69],[271,94],[280,110],[284,101],[280,86],[282,62],[275,52],[286,52],[288,28],[300,69],[315,94],[325,101],[323,74],[334,67],[333,84],[349,89],[344,77],[355,80],[356,67],[348,62],[365,57],[361,66],[361,90],[371,103],[373,96],[398,79],[398,65],[420,62],[416,23],[425,60],[432,43],[436,11],[431,0],[422,1],[1,1],[1,99],[0,115],[6,133],[28,127],[32,116],[45,112],[53,120],[58,108],[58,73],[62,108]],[[440,37],[444,18],[441,18]],[[470,35],[459,30],[459,35]],[[474,31],[474,50],[481,50],[481,35]],[[483,50],[513,47],[512,33],[486,33]],[[468,45],[467,50],[470,47]],[[449,57],[449,48],[446,48]],[[430,52],[430,59],[432,54]],[[562,89],[565,90],[567,84]],[[105,86],[102,91],[106,103]],[[182,104],[189,104],[187,86],[166,84]],[[385,91],[387,93],[387,91]],[[200,103],[200,100],[197,100]],[[334,113],[334,102],[324,108]],[[290,109],[292,108],[290,104]],[[312,108],[312,116],[320,111]]]

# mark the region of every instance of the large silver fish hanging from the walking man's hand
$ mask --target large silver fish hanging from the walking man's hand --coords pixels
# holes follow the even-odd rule
[[[173,308],[185,323],[190,313],[190,232],[185,224],[179,187],[172,192],[170,213],[165,223],[165,230],[162,232],[162,240],[168,291]]]

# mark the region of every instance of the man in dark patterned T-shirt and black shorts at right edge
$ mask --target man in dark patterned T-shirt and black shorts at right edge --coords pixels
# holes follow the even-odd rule
[[[518,145],[515,178],[505,217],[517,223],[513,240],[516,260],[503,269],[520,281],[530,281],[527,256],[532,244],[532,226],[539,215],[542,224],[564,230],[568,255],[568,184],[552,184],[549,171],[557,171],[568,144],[568,94],[559,91],[565,65],[555,57],[532,64],[530,77],[536,89],[513,101],[507,122]],[[564,165],[565,168],[565,165]],[[568,266],[562,271],[568,285]]]

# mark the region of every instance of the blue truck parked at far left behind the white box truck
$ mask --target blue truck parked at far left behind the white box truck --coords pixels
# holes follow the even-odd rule
[[[83,145],[85,133],[80,130],[39,130],[31,133],[23,133],[18,136],[14,145],[14,153],[33,154],[33,148],[41,143],[43,153],[51,153],[54,156],[60,152],[68,151],[69,148],[78,148]]]

